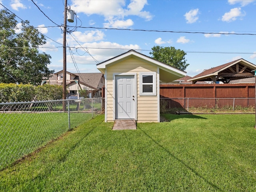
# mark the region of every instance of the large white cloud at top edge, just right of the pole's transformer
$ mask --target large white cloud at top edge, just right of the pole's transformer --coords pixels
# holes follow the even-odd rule
[[[108,27],[122,26],[122,28],[133,25],[131,19],[124,20],[126,16],[139,16],[146,21],[152,19],[150,12],[144,11],[147,0],[131,0],[126,6],[125,0],[114,1],[91,1],[91,0],[72,0],[72,10],[76,13],[82,12],[87,15],[102,15],[107,21],[104,25]],[[114,25],[114,26],[112,26]]]

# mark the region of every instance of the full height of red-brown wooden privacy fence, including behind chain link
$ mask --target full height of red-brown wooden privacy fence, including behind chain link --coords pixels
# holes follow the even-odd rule
[[[171,108],[229,109],[255,107],[254,84],[160,85],[160,104]]]

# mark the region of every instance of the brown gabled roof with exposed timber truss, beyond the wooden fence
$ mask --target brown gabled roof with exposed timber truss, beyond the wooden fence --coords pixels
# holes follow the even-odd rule
[[[212,77],[222,80],[235,80],[241,78],[252,77],[252,70],[256,69],[256,65],[244,60],[238,59],[226,64],[204,70],[202,73],[192,77],[188,81],[212,81]]]

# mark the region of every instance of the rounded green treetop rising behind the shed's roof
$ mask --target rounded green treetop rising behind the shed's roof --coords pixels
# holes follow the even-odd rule
[[[160,47],[154,46],[152,48],[152,58],[160,62],[178,68],[180,70],[186,70],[187,60],[185,60],[186,53],[183,50],[175,49],[174,47]]]

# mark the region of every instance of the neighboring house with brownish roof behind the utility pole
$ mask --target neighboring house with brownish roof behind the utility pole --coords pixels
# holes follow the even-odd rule
[[[56,72],[49,80],[45,80],[49,84],[62,85],[63,70]],[[77,98],[78,90],[86,90],[88,97],[101,97],[102,87],[105,78],[102,73],[70,73],[66,72],[66,86],[68,90],[68,98]]]

